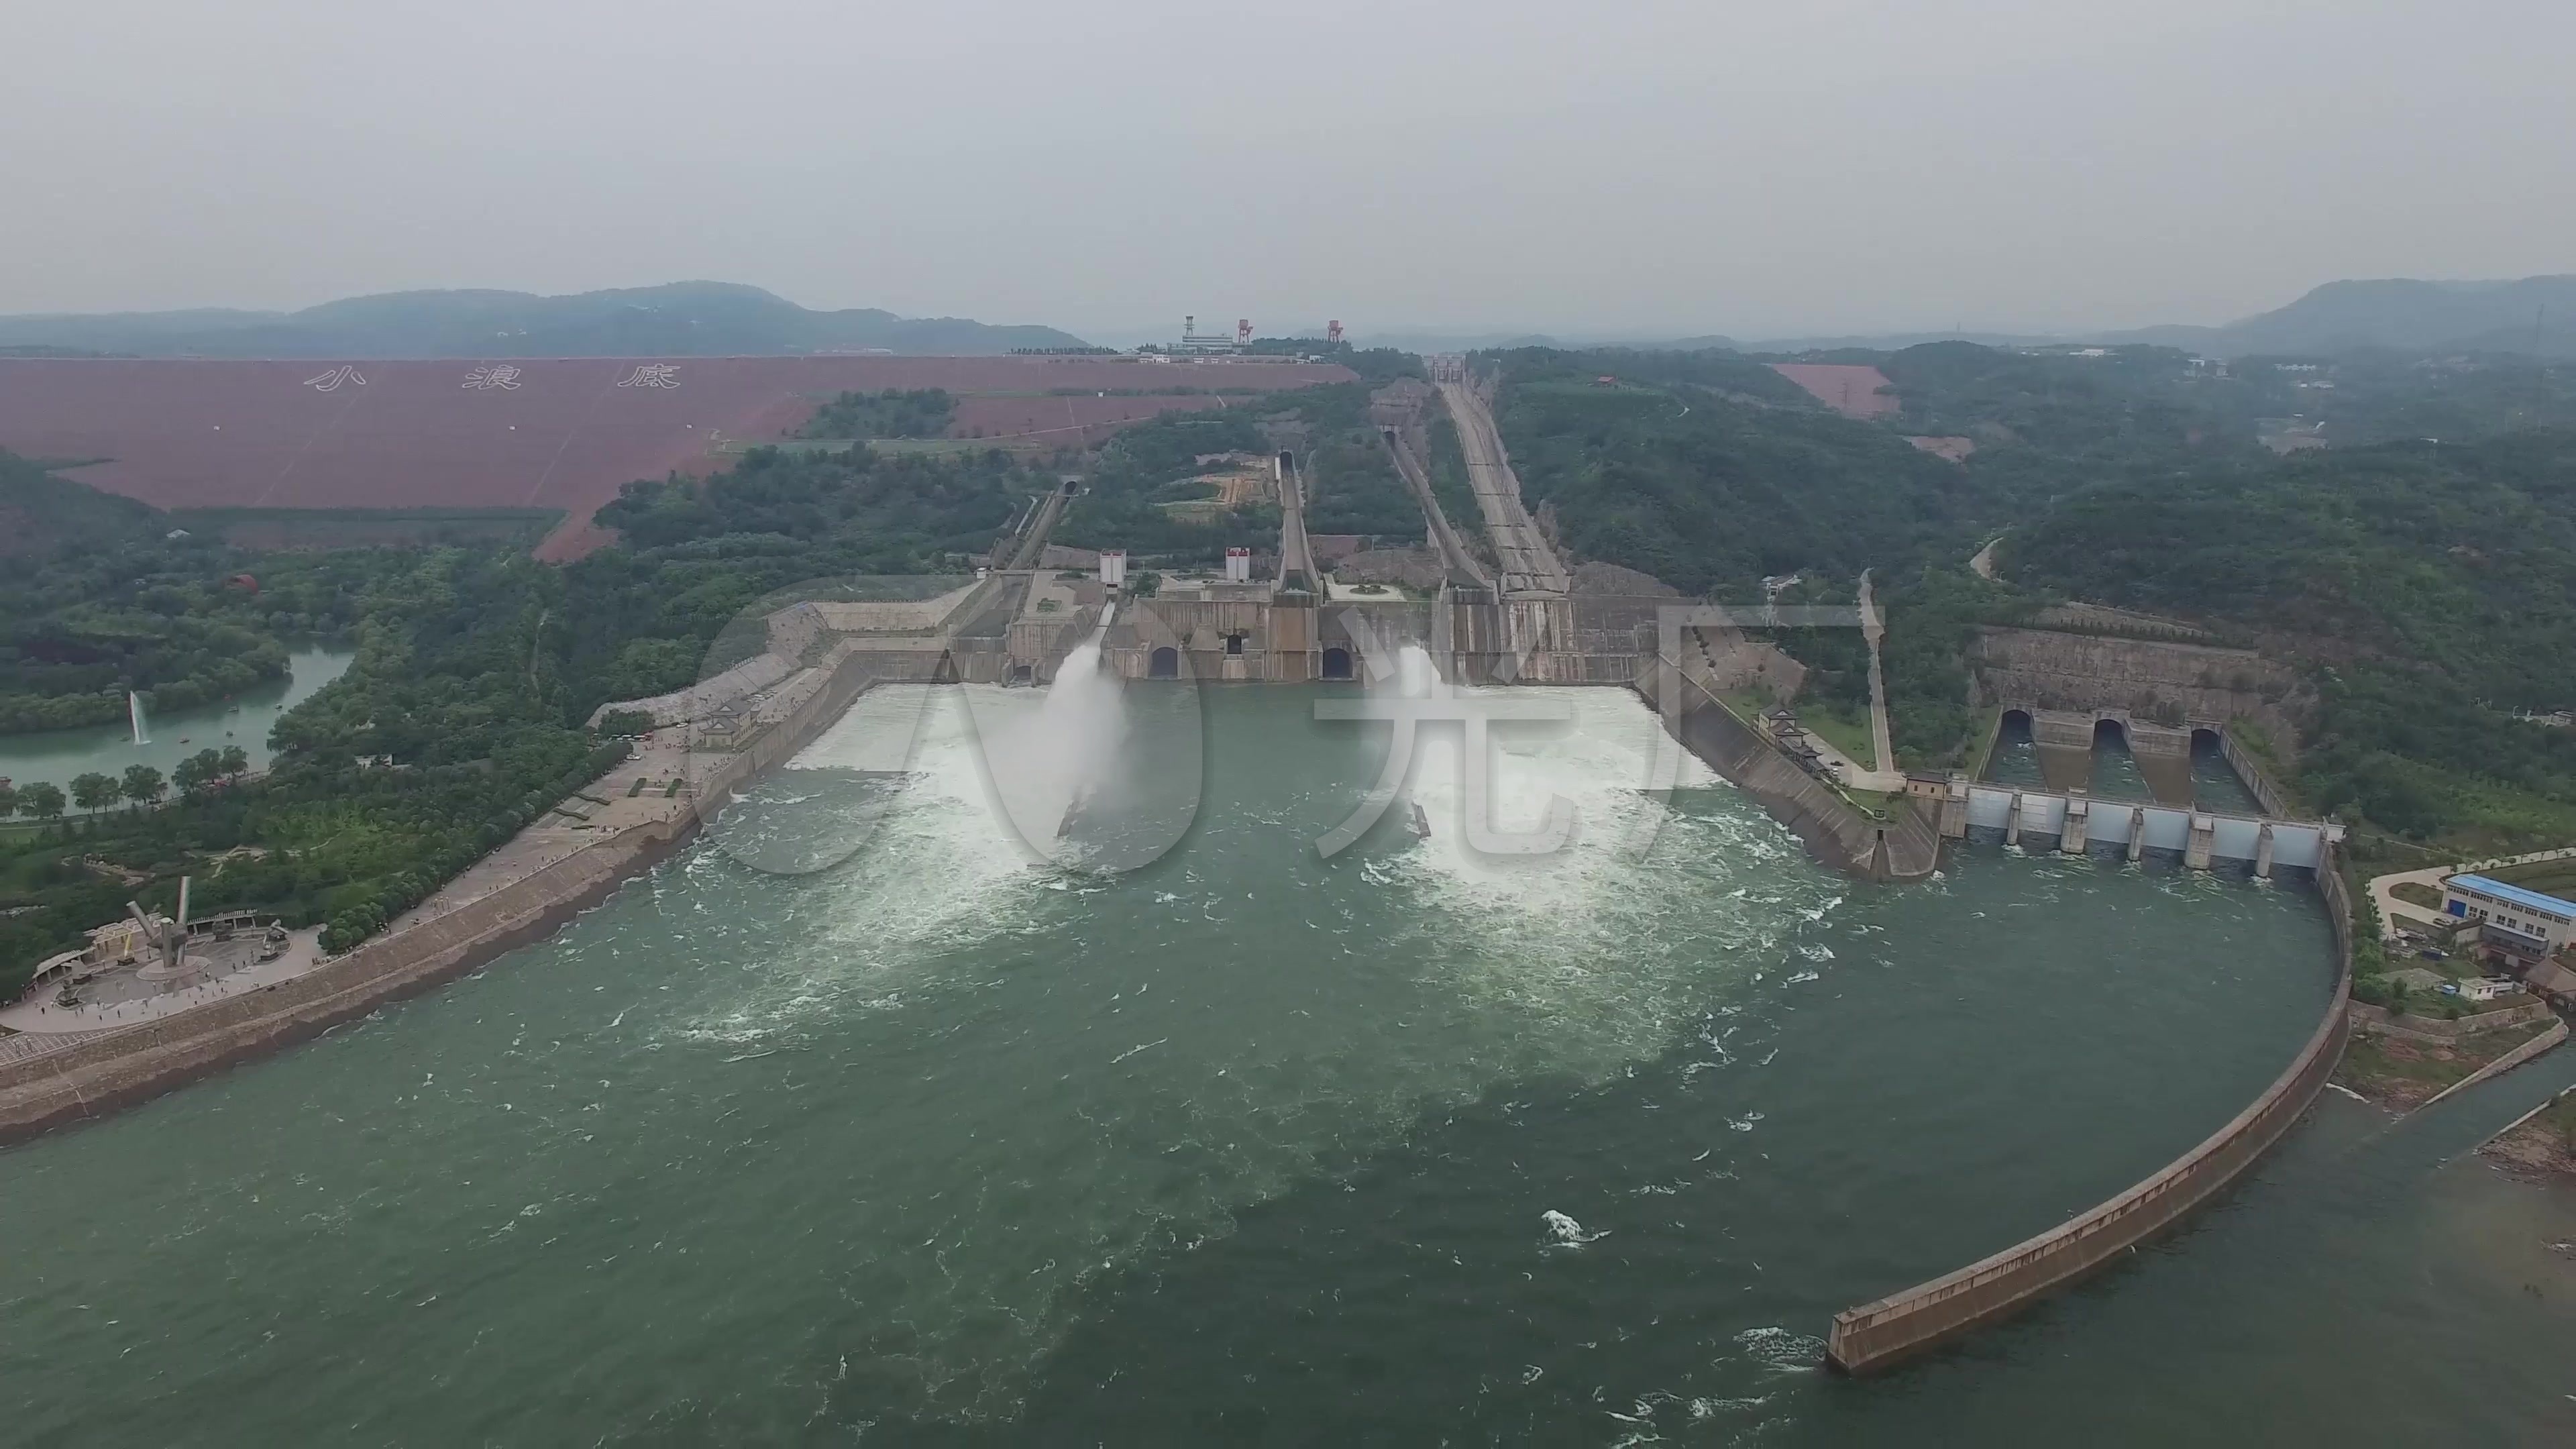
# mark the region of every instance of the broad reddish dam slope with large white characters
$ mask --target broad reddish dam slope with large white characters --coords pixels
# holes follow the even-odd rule
[[[951,436],[1054,449],[1350,376],[1100,356],[0,358],[0,449],[162,508],[562,508],[538,557],[569,559],[608,541],[590,513],[626,482],[714,472],[721,443],[788,436],[837,392],[945,387]]]

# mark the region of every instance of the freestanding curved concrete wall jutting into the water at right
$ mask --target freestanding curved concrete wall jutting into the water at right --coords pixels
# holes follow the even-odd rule
[[[2331,846],[2316,879],[2334,920],[2334,1000],[2280,1080],[2202,1145],[2102,1207],[1955,1274],[1837,1312],[1824,1348],[1826,1366],[1868,1374],[1953,1333],[2017,1312],[2172,1227],[2280,1142],[2326,1088],[2352,1034],[2344,1011],[2352,1000],[2352,900],[2334,871]]]

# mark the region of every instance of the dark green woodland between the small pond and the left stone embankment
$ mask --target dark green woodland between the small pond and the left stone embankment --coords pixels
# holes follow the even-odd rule
[[[263,575],[258,598],[286,608],[312,593],[296,580],[330,583],[355,642],[348,673],[278,719],[265,779],[191,779],[157,810],[80,815],[64,810],[70,781],[13,781],[5,804],[33,833],[0,833],[0,908],[13,910],[0,915],[0,995],[126,897],[167,910],[180,874],[196,874],[201,910],[325,923],[325,944],[345,949],[613,766],[626,745],[582,727],[592,709],[693,683],[742,608],[824,575],[961,570],[1048,480],[1002,451],[752,449],[716,480],[631,485],[608,511],[623,544],[567,567],[515,547],[296,554],[278,572],[289,588]],[[252,627],[224,624],[250,596],[188,593],[224,549],[149,531],[118,547],[113,562],[82,549],[54,565],[75,570],[82,608]],[[214,861],[237,846],[252,853]]]

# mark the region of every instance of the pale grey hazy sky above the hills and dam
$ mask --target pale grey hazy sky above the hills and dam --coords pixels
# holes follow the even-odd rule
[[[0,312],[2218,322],[2576,271],[2566,0],[10,0]]]

